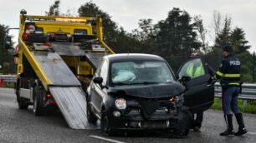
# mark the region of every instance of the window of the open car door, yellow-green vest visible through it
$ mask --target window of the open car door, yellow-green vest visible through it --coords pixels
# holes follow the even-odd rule
[[[200,58],[186,62],[179,72],[179,77],[191,76],[192,78],[196,78],[204,75],[206,75],[206,72]]]

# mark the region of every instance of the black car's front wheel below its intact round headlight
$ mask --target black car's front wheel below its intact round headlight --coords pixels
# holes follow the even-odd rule
[[[108,136],[114,136],[115,135],[115,131],[113,131],[113,129],[110,128],[109,120],[108,120],[106,111],[103,111],[101,113],[100,129],[101,129],[102,132],[105,132]]]

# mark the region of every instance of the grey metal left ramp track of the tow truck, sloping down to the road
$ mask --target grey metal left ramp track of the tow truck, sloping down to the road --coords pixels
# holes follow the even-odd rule
[[[44,75],[52,82],[49,91],[72,129],[93,129],[86,117],[86,100],[81,84],[56,52],[32,52]],[[101,58],[101,57],[100,57]]]

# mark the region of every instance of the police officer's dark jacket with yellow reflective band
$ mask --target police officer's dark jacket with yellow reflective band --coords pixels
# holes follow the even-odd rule
[[[221,66],[219,67],[215,79],[221,79],[220,84],[223,87],[228,86],[240,86],[240,74],[241,64],[237,57],[234,57],[232,54],[229,54],[228,57],[225,57],[222,61]]]

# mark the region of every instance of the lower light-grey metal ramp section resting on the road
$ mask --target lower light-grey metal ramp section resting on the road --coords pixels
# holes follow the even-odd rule
[[[86,100],[80,86],[49,86],[49,91],[71,129],[99,128],[99,122],[87,121]]]

